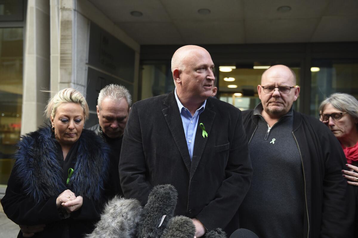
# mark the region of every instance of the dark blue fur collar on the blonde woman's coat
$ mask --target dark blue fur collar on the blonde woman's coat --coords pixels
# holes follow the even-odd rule
[[[51,137],[51,128],[40,128],[24,135],[15,153],[16,174],[25,193],[37,201],[57,197],[67,189],[62,181],[56,143],[56,139]],[[76,196],[100,200],[108,177],[108,146],[86,129],[83,129],[78,143],[76,165],[69,185]]]

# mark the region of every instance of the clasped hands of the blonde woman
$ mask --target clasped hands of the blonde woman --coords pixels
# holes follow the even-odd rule
[[[82,203],[82,196],[76,197],[76,195],[69,189],[63,191],[56,199],[56,207],[60,208],[62,206],[68,213],[74,212],[81,208]]]

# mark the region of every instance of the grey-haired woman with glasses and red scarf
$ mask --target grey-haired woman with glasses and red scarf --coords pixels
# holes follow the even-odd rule
[[[348,170],[343,177],[358,186],[358,101],[346,93],[334,93],[319,106],[320,121],[327,125],[342,145]]]

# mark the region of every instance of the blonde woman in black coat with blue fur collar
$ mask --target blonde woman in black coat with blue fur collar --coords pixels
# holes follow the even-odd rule
[[[4,212],[34,234],[18,237],[83,237],[100,218],[108,171],[108,148],[83,129],[88,105],[77,90],[67,88],[49,100],[50,127],[26,134],[19,142],[6,194]],[[43,225],[40,224],[45,224]]]

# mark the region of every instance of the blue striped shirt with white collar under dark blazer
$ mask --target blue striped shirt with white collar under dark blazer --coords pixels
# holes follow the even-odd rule
[[[184,128],[185,138],[187,139],[190,159],[192,159],[193,150],[194,150],[194,140],[195,140],[195,134],[197,133],[199,115],[205,109],[206,100],[200,106],[200,108],[195,111],[194,116],[192,116],[190,111],[187,108],[185,108],[183,104],[179,101],[178,95],[176,95],[176,89],[174,90],[174,94],[175,94],[176,102],[178,103],[180,117],[182,118],[182,122],[183,122],[183,128]]]

